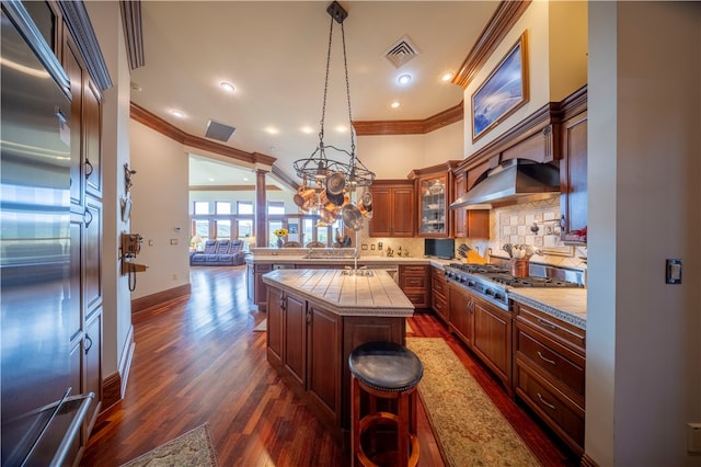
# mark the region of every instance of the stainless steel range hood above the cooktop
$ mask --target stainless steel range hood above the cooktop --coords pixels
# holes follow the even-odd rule
[[[560,192],[560,170],[549,163],[509,159],[450,204],[451,209],[491,209],[492,203]]]

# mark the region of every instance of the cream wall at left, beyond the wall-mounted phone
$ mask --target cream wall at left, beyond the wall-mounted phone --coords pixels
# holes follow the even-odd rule
[[[139,298],[189,283],[188,156],[183,146],[131,121],[131,231],[143,237],[136,262]],[[175,241],[176,244],[172,244]]]

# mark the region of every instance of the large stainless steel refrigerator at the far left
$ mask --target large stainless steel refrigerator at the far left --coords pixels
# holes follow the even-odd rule
[[[0,464],[67,465],[92,398],[70,346],[70,88],[22,2],[2,2],[1,26]]]

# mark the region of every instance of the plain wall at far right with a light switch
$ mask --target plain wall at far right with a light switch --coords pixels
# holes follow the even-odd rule
[[[589,21],[586,451],[701,466],[701,3],[591,2]]]

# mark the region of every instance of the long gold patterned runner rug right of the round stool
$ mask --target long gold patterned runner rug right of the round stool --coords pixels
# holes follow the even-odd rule
[[[443,339],[406,345],[424,364],[418,395],[446,465],[541,465]]]

